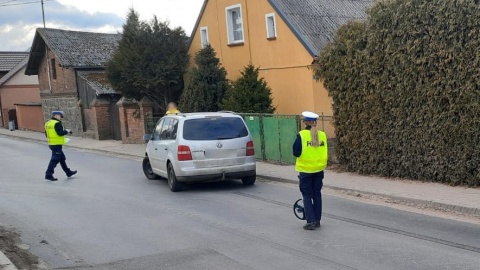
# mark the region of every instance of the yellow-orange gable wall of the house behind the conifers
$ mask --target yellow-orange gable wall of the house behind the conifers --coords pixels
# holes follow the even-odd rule
[[[225,8],[241,4],[244,44],[228,46]],[[265,15],[275,13],[276,40],[267,39]],[[331,115],[330,99],[309,69],[312,56],[290,31],[267,0],[209,0],[190,46],[190,55],[201,49],[200,28],[208,27],[208,38],[231,80],[251,62],[272,88],[279,114],[311,110]]]

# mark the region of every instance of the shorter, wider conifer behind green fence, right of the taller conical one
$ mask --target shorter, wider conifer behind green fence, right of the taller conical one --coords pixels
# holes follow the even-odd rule
[[[241,76],[227,91],[222,109],[243,113],[273,113],[272,91],[264,78],[259,78],[258,68],[247,65]]]

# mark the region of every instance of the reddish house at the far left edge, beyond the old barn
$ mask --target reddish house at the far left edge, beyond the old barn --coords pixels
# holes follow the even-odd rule
[[[37,117],[41,111],[38,77],[24,75],[28,56],[28,52],[0,52],[0,126],[5,128],[11,120],[22,129],[43,126],[43,119]]]

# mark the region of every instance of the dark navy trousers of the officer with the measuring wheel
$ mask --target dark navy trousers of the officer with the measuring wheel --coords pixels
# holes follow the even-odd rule
[[[302,192],[303,206],[307,222],[320,221],[322,219],[322,194],[323,171],[318,173],[300,173],[300,192]]]

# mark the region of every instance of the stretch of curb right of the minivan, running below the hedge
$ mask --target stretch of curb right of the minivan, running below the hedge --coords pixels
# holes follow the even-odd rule
[[[261,175],[261,174],[257,174],[257,176],[270,181],[289,183],[289,184],[298,184],[298,181],[291,180],[291,179],[278,178],[278,177]],[[480,217],[480,208],[465,207],[465,206],[459,206],[455,204],[440,203],[440,202],[434,202],[434,201],[407,198],[402,196],[387,195],[387,194],[370,192],[370,191],[361,191],[356,189],[335,187],[331,185],[324,185],[324,187],[331,190],[344,192],[350,196],[357,196],[357,197],[375,196],[378,198],[383,198],[389,203],[402,204],[407,206],[414,206],[414,207],[420,207],[420,208],[431,209],[431,210],[441,210],[441,211],[452,212],[456,214],[472,215],[472,216]]]

